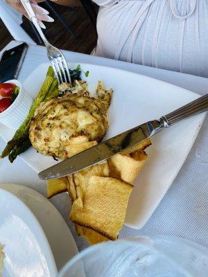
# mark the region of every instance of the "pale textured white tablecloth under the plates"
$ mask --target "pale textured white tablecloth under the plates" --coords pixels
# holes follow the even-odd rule
[[[17,42],[11,42],[7,48],[15,46]],[[108,60],[101,57],[83,55],[64,51],[70,62],[85,62],[112,66],[128,71],[164,80],[176,84],[196,93],[208,92],[208,79],[193,75],[153,69],[148,66],[128,64]],[[42,46],[30,46],[24,65],[19,75],[19,80],[26,77],[42,62],[47,62],[46,51]],[[1,133],[1,132],[0,132]],[[120,238],[136,237],[139,235],[177,235],[196,241],[208,247],[208,120],[200,129],[200,134],[193,145],[184,166],[177,175],[171,188],[159,204],[155,213],[141,230],[133,230],[126,226],[121,231]],[[188,138],[187,138],[188,139]],[[0,138],[0,150],[5,143]],[[182,145],[181,145],[182,147]],[[46,195],[45,183],[40,181],[37,173],[29,168],[20,158],[12,165],[7,159],[0,160],[0,183],[16,183],[29,186]],[[68,220],[69,199],[63,193],[51,199],[66,220],[78,245],[78,249],[87,247],[87,242],[79,238],[73,230],[73,224]]]

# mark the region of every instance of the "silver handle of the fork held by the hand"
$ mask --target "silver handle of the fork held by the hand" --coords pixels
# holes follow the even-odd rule
[[[43,31],[42,31],[42,28],[40,27],[40,24],[38,22],[38,19],[35,15],[35,12],[31,6],[31,2],[29,0],[20,0],[22,5],[24,6],[27,14],[28,14],[28,17],[29,19],[33,22],[35,28],[37,29],[37,32],[40,34],[40,37],[42,38],[43,42],[45,45],[48,45],[49,42],[48,40],[46,39]]]

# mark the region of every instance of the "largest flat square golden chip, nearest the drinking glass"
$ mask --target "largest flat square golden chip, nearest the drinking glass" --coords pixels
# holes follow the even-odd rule
[[[118,179],[89,177],[83,199],[78,197],[73,202],[70,219],[115,240],[125,220],[132,188],[132,185]]]

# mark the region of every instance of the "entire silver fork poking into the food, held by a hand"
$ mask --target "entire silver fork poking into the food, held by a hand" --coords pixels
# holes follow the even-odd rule
[[[40,37],[42,38],[45,46],[47,55],[49,57],[49,61],[51,62],[51,65],[53,66],[53,70],[55,72],[55,75],[58,79],[59,84],[62,82],[69,82],[71,83],[69,68],[67,65],[67,61],[64,58],[64,55],[62,52],[56,48],[55,46],[51,45],[49,41],[46,39],[42,28],[40,27],[40,24],[38,22],[38,19],[35,15],[35,12],[33,11],[33,8],[31,6],[31,2],[29,0],[21,0],[22,5],[24,6],[28,17],[33,22],[35,28],[37,29],[37,32],[40,34]]]

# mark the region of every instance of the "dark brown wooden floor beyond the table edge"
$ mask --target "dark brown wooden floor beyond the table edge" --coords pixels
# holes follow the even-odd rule
[[[52,12],[51,17],[55,19],[53,23],[44,23],[46,25],[45,35],[49,39],[49,42],[58,48],[65,50],[80,52],[80,53],[91,53],[94,46],[96,46],[96,30],[92,25],[91,21],[83,8],[77,10],[70,10],[70,8],[55,5],[54,6],[59,15],[61,15],[64,21],[69,24],[73,29],[76,37],[72,37],[64,26],[55,18]],[[45,7],[44,7],[45,8]],[[31,25],[28,19],[24,19],[23,27],[28,33],[34,36],[31,31]],[[0,51],[12,40],[12,36],[3,25],[0,19]],[[38,43],[37,43],[38,44]]]

